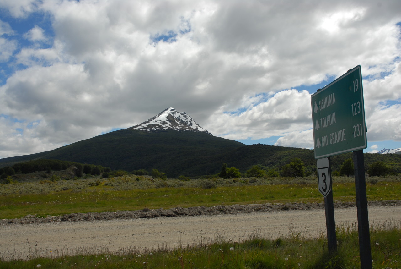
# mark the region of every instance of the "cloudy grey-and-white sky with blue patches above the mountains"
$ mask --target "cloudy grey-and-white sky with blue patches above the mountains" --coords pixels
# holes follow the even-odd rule
[[[0,0],[0,158],[168,107],[313,148],[310,95],[361,65],[368,148],[401,147],[401,1]]]

